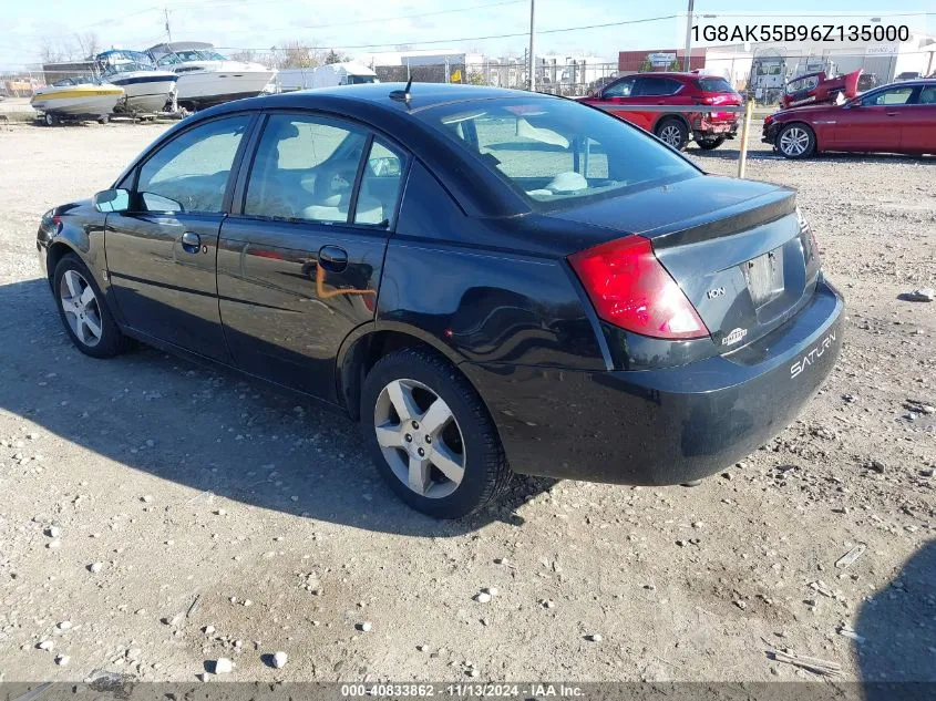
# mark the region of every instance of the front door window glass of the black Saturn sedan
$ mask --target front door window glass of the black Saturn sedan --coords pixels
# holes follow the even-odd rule
[[[146,212],[218,214],[237,147],[250,117],[214,120],[184,132],[140,168],[136,190]]]

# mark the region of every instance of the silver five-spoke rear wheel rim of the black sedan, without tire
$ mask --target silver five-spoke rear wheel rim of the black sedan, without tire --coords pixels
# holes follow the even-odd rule
[[[412,492],[442,498],[465,474],[465,446],[459,422],[445,401],[416,380],[393,380],[373,411],[380,451],[393,474]]]

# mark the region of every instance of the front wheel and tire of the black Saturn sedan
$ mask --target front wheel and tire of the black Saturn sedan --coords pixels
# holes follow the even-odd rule
[[[62,256],[52,290],[65,332],[82,353],[113,358],[126,350],[127,338],[117,328],[94,276],[76,255]]]

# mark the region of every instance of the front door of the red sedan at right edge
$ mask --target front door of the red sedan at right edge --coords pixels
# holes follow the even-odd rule
[[[837,151],[898,152],[912,85],[893,86],[863,95],[839,112]]]

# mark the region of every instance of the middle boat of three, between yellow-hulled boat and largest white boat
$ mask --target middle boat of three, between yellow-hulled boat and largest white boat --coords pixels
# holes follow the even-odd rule
[[[117,112],[130,114],[162,112],[172,104],[178,75],[156,70],[148,54],[112,49],[95,56],[101,80],[124,90]]]

